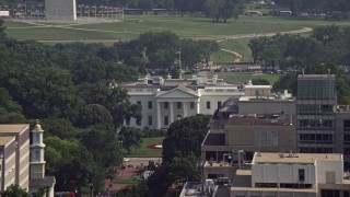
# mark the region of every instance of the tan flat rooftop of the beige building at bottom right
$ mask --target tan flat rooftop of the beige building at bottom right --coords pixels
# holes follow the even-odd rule
[[[253,164],[258,164],[258,163],[313,164],[317,160],[318,161],[342,161],[342,154],[255,152],[252,163]]]

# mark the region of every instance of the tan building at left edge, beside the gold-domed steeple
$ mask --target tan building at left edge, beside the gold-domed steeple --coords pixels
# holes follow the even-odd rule
[[[11,184],[28,189],[30,125],[0,125],[0,189]]]

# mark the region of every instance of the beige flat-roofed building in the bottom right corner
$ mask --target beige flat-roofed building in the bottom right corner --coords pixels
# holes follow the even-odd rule
[[[256,152],[252,170],[237,171],[230,196],[349,196],[342,165],[337,153]]]

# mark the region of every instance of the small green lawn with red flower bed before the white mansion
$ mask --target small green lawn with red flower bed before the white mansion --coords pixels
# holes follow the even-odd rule
[[[149,149],[149,144],[162,144],[163,137],[159,138],[143,138],[142,144],[139,149],[132,150],[127,157],[162,157],[162,149]]]

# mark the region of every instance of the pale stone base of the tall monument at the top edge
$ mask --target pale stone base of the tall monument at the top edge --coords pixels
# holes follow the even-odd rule
[[[52,21],[77,20],[75,0],[45,0],[45,18]]]

